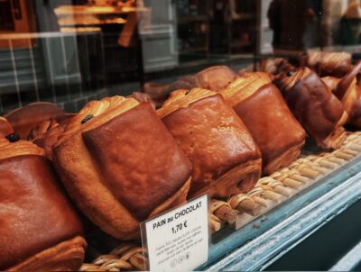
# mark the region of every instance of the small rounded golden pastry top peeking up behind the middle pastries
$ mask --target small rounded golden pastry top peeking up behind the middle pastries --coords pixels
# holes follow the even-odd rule
[[[211,91],[217,91],[224,88],[235,80],[236,77],[236,72],[227,66],[212,66],[201,70],[196,75],[199,87]]]

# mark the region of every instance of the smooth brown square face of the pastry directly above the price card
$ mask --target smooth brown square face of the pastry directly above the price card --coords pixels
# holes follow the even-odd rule
[[[83,132],[104,184],[144,220],[190,177],[190,165],[149,104]]]

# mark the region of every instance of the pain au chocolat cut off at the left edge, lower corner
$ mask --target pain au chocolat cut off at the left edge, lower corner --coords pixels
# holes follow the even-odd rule
[[[0,270],[74,271],[86,241],[43,150],[0,137]]]

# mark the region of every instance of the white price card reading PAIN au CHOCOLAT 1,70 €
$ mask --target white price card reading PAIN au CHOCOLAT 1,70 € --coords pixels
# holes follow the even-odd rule
[[[148,269],[189,271],[208,260],[208,195],[143,222]]]

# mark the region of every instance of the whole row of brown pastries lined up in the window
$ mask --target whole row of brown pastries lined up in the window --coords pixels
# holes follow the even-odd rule
[[[0,117],[0,270],[79,268],[80,213],[116,239],[139,239],[140,222],[187,199],[249,191],[299,158],[307,136],[338,149],[344,124],[361,125],[361,64],[333,56],[338,77],[316,57],[313,67],[269,59],[258,72],[180,77],[157,110],[134,94],[79,113],[36,103]]]

